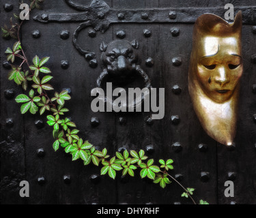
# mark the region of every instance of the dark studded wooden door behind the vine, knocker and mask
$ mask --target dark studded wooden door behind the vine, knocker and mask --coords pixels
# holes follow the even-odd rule
[[[1,26],[18,12],[18,2],[11,12],[3,9],[1,1]],[[53,72],[53,87],[57,91],[68,89],[72,100],[68,116],[74,121],[82,138],[89,140],[98,149],[106,147],[115,151],[145,149],[154,159],[173,159],[171,174],[185,187],[194,187],[195,200],[210,204],[255,204],[256,203],[256,114],[255,87],[256,25],[255,0],[244,1],[178,1],[178,0],[105,0],[109,7],[129,14],[131,11],[145,12],[138,20],[124,20],[103,16],[111,22],[104,33],[86,28],[81,30],[77,42],[81,48],[96,53],[94,61],[87,61],[72,44],[72,35],[79,19],[53,20],[46,14],[82,13],[65,1],[46,1],[42,11],[34,10],[30,20],[22,27],[22,44],[28,58],[34,55],[49,56],[48,66]],[[91,1],[74,0],[74,3],[89,6]],[[235,12],[242,9],[242,48],[244,75],[240,93],[240,112],[236,147],[227,149],[210,138],[199,123],[188,94],[188,63],[192,48],[193,23],[203,13],[212,12],[222,16],[224,5],[233,3]],[[221,9],[220,9],[221,8]],[[150,10],[153,9],[153,10]],[[161,11],[162,10],[162,11]],[[161,11],[161,12],[160,12]],[[154,13],[167,12],[167,18],[154,20]],[[170,12],[170,14],[168,14]],[[142,14],[143,14],[142,13]],[[33,16],[44,14],[46,23],[33,20]],[[152,15],[153,14],[153,15]],[[159,14],[158,14],[159,15]],[[162,14],[160,14],[162,16]],[[61,18],[59,16],[59,18]],[[96,16],[94,14],[94,16]],[[98,14],[97,16],[101,16]],[[159,17],[161,17],[159,16]],[[91,18],[94,18],[91,16]],[[96,18],[96,20],[99,18]],[[128,19],[128,18],[127,18]],[[69,37],[63,37],[63,31]],[[121,31],[121,32],[120,32]],[[144,33],[146,31],[146,33]],[[37,32],[40,34],[38,35]],[[65,35],[65,34],[64,34]],[[150,112],[92,112],[91,89],[96,87],[100,67],[100,44],[123,38],[139,42],[139,60],[142,69],[152,81],[152,87],[165,88],[165,117],[151,122]],[[71,161],[61,149],[52,148],[51,127],[45,116],[21,115],[20,106],[14,98],[22,92],[20,87],[8,81],[5,49],[13,40],[1,39],[1,203],[2,204],[190,204],[181,198],[182,189],[175,183],[161,189],[149,179],[121,178],[115,181],[100,176],[100,168],[83,166],[82,161]],[[152,58],[154,65],[146,64]],[[68,67],[63,66],[68,62]],[[254,85],[255,86],[255,85]],[[91,125],[96,117],[99,125]],[[126,121],[126,122],[124,122]],[[40,155],[41,154],[41,155]],[[42,155],[43,154],[43,155]],[[65,183],[64,176],[70,176]],[[38,178],[44,177],[44,184]],[[29,181],[30,197],[20,198],[20,181]],[[225,181],[235,185],[234,198],[224,195]]]

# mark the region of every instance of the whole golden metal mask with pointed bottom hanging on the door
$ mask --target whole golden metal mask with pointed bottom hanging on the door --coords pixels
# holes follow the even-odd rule
[[[195,22],[188,89],[195,112],[207,134],[233,144],[236,136],[240,77],[242,12],[233,23],[214,14]]]

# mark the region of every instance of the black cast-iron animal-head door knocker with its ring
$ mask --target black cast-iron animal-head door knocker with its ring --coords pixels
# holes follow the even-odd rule
[[[129,84],[129,82],[134,78],[134,75],[139,75],[139,78],[142,78],[145,88],[147,91],[144,92],[143,97],[137,97],[132,99],[132,102],[128,104],[124,103],[126,108],[135,108],[142,104],[145,95],[150,95],[151,83],[150,78],[147,74],[141,69],[138,62],[137,49],[139,44],[137,40],[128,42],[126,40],[113,40],[109,44],[102,42],[100,45],[100,51],[102,52],[101,61],[103,71],[97,79],[97,87],[102,88],[103,81],[109,80],[115,84]],[[119,104],[116,104],[112,99],[106,97],[104,102],[111,105],[115,111],[117,108],[120,108]],[[136,106],[135,106],[136,105]],[[130,111],[130,110],[129,110]]]

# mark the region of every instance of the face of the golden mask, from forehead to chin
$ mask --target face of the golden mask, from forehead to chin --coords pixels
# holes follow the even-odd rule
[[[242,51],[236,35],[199,38],[196,78],[201,89],[214,102],[230,99],[242,76]]]

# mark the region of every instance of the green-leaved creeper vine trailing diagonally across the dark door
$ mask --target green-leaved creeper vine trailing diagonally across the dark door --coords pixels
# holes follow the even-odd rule
[[[40,9],[44,0],[30,1],[30,10],[33,10],[34,8]],[[16,19],[16,22],[13,21],[14,19]],[[106,149],[99,151],[93,144],[79,137],[79,129],[76,129],[76,124],[65,117],[65,113],[69,110],[64,106],[66,101],[71,99],[68,91],[55,92],[53,97],[48,95],[48,91],[54,89],[48,83],[53,79],[53,76],[47,75],[51,74],[51,69],[46,67],[50,57],[40,59],[38,55],[35,55],[32,60],[33,64],[29,64],[25,51],[20,44],[20,27],[24,20],[19,22],[16,14],[14,14],[14,19],[10,19],[10,27],[7,25],[1,27],[3,37],[18,39],[12,48],[7,48],[5,51],[7,60],[12,63],[8,80],[14,80],[27,93],[20,94],[15,99],[17,103],[21,104],[21,114],[26,112],[36,114],[38,111],[40,115],[43,115],[46,111],[52,113],[46,117],[48,125],[53,127],[53,138],[55,139],[53,149],[57,151],[62,147],[66,153],[72,155],[72,161],[82,159],[85,166],[90,163],[100,166],[100,174],[108,174],[113,179],[115,179],[117,171],[122,171],[122,176],[134,176],[134,171],[137,170],[140,171],[141,178],[150,178],[153,183],[159,184],[163,189],[171,181],[175,181],[184,190],[181,196],[190,198],[196,204],[192,197],[195,189],[185,188],[169,174],[169,170],[173,170],[172,159],[155,161],[149,159],[142,149],[139,152],[133,150],[130,152],[125,150],[124,153],[116,152],[115,156],[111,157]],[[20,65],[14,64],[14,62],[17,62],[16,59],[21,60]],[[199,204],[208,204],[208,202],[200,200]]]

